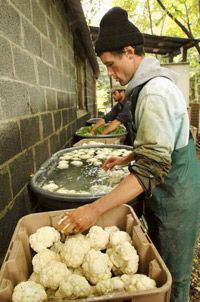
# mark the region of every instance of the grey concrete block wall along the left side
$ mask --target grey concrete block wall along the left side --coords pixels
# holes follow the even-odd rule
[[[89,65],[87,72],[90,82]],[[19,218],[38,209],[30,175],[71,146],[89,118],[77,119],[75,81],[73,34],[62,1],[0,1],[1,262]]]

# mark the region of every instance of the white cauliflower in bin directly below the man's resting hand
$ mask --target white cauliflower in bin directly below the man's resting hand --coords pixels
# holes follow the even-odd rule
[[[61,258],[68,267],[77,268],[83,263],[84,256],[90,250],[86,236],[77,234],[66,238]]]

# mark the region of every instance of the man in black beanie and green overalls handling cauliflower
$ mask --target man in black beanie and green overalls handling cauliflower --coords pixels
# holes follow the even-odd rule
[[[193,251],[199,228],[200,165],[174,74],[145,57],[141,32],[119,7],[101,20],[95,50],[108,74],[126,85],[135,124],[133,152],[111,157],[105,170],[129,163],[130,174],[110,193],[66,214],[63,232],[78,232],[137,196],[144,197],[148,233],[172,274],[173,302],[188,302]]]

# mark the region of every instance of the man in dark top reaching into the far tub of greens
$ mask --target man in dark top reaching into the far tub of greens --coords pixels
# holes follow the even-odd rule
[[[130,113],[130,102],[125,99],[125,87],[120,85],[116,85],[111,90],[112,98],[117,103],[110,112],[108,112],[104,117],[100,118],[96,124],[93,124],[91,127],[91,134],[95,134],[96,130],[104,125],[105,123],[109,123],[109,125],[104,129],[102,134],[109,134],[118,128],[121,124],[127,129],[127,136],[125,139],[126,145],[133,145],[131,140],[131,121],[132,116]]]

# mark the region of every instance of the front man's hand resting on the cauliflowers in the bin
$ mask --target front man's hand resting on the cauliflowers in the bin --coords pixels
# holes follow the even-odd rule
[[[99,213],[93,203],[86,204],[65,213],[59,220],[57,229],[63,234],[76,234],[83,232],[96,223]]]

